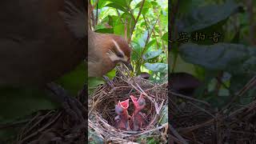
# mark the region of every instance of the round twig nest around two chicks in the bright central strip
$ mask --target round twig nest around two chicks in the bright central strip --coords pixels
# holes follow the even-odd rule
[[[161,85],[142,78],[130,78],[127,71],[118,67],[114,78],[114,88],[108,85],[99,86],[89,100],[89,130],[97,134],[105,142],[134,142],[138,138],[154,137],[159,142],[166,142],[167,122],[162,123],[163,110],[167,107],[167,82]],[[130,94],[138,97],[144,94],[146,108],[144,110],[150,124],[141,131],[118,130],[114,127],[114,106],[118,101],[130,98]],[[132,114],[133,106],[128,113]],[[165,112],[167,114],[167,111]],[[93,138],[89,138],[93,140]]]

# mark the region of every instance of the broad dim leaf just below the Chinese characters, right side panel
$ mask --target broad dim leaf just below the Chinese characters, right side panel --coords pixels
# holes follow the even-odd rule
[[[230,74],[250,73],[256,70],[256,48],[230,43],[199,46],[187,43],[179,48],[186,62],[208,70],[224,70]]]

